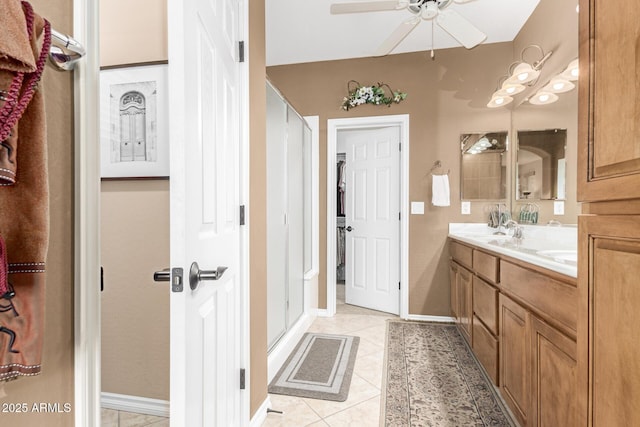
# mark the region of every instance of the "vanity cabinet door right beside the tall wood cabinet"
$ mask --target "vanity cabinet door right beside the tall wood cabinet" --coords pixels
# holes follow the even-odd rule
[[[578,425],[576,342],[531,316],[530,426]]]

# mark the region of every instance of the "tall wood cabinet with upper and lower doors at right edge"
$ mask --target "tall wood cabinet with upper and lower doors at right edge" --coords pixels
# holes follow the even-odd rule
[[[579,424],[640,425],[640,2],[579,19]]]

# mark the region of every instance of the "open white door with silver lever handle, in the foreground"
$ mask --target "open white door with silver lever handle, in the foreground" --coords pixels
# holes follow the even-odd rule
[[[171,425],[240,426],[238,0],[169,0]],[[189,269],[226,271],[192,290]],[[209,278],[213,279],[214,274]],[[172,274],[171,286],[176,275]]]

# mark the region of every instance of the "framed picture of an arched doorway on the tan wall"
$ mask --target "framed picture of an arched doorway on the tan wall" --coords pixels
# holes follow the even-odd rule
[[[100,71],[103,179],[169,177],[167,64]]]

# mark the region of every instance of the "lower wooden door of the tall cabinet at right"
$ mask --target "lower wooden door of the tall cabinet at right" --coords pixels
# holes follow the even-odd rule
[[[578,227],[582,413],[589,426],[637,426],[640,215],[581,216]]]

